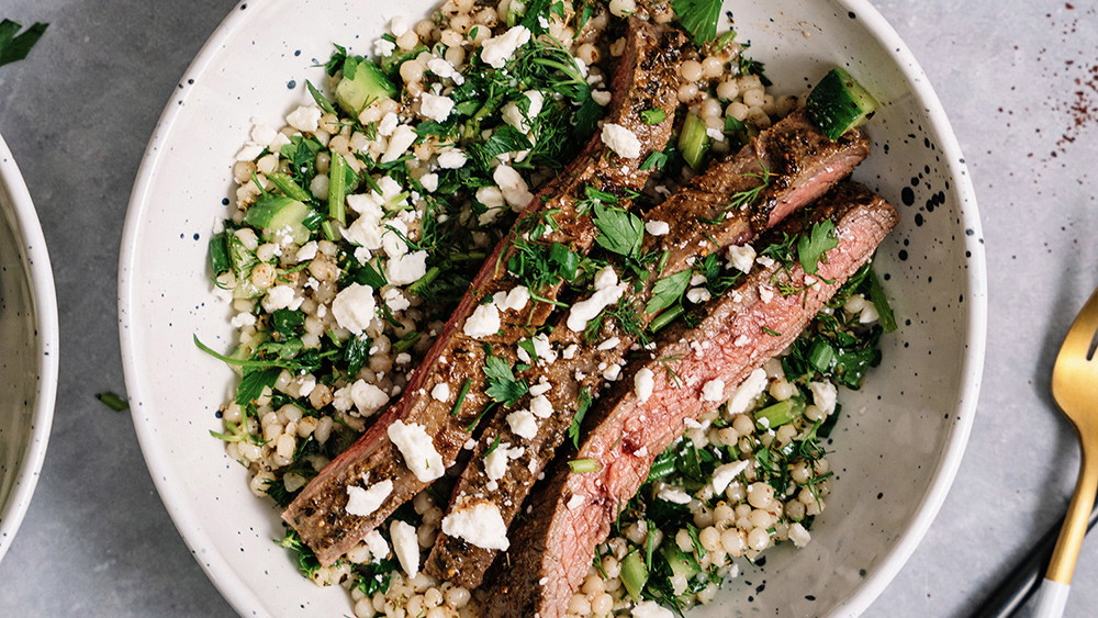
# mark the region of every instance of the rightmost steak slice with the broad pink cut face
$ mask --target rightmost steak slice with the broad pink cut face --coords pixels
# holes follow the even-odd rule
[[[809,221],[822,217],[833,221],[839,245],[827,251],[815,277],[808,279],[799,263],[757,266],[739,288],[697,312],[697,326],[680,321],[669,327],[651,355],[661,360],[630,366],[632,373],[652,372],[646,401],[632,389],[618,389],[596,403],[572,459],[592,460],[597,470],[574,473],[561,467],[539,487],[529,519],[512,532],[511,550],[489,573],[485,615],[563,615],[595,547],[654,458],[682,435],[687,419],[731,397],[753,370],[787,347],[872,257],[898,215],[864,187],[843,183],[821,200]],[[791,217],[778,232],[796,234],[806,225]],[[783,295],[776,284],[800,291]],[[632,384],[632,373],[626,384]]]

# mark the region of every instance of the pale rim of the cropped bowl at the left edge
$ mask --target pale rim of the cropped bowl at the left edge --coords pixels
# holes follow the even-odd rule
[[[46,238],[38,224],[38,215],[31,201],[31,193],[15,164],[15,157],[0,136],[0,192],[7,193],[14,210],[16,241],[22,244],[26,262],[23,267],[31,276],[31,297],[34,303],[34,323],[37,329],[38,384],[31,418],[30,442],[19,462],[19,481],[8,504],[0,513],[0,559],[8,552],[15,532],[23,523],[31,505],[38,474],[46,458],[49,428],[53,425],[54,403],[57,396],[58,324],[57,296],[54,273],[49,266]]]

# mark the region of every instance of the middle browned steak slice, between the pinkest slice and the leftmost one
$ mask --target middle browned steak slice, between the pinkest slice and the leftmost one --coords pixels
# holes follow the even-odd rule
[[[564,441],[583,393],[598,393],[604,382],[618,378],[630,347],[659,313],[645,311],[658,281],[729,245],[750,243],[849,176],[869,151],[861,132],[832,142],[804,111],[797,111],[646,213],[648,224],[666,225],[663,234],[647,234],[641,250],[665,256],[659,277],[634,288],[617,282],[613,270],[600,273],[623,286],[619,306],[635,312],[637,322],[625,327],[619,319],[606,318],[596,332],[585,333],[586,323],[575,328],[580,322],[573,319],[575,312],[562,313],[547,338],[547,351],[524,359],[534,366],[522,374],[533,385],[530,394],[497,412],[488,424],[455,487],[447,518],[492,504],[509,526]],[[453,530],[444,519],[427,573],[466,587],[479,586],[500,548],[448,531]]]

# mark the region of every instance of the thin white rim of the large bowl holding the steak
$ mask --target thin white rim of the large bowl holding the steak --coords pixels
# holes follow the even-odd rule
[[[970,268],[966,269],[966,283],[971,302],[966,303],[965,355],[960,367],[962,385],[957,396],[959,404],[955,411],[955,420],[952,424],[948,443],[939,457],[930,487],[923,495],[910,526],[893,544],[879,565],[866,575],[858,592],[842,602],[831,613],[832,616],[858,616],[876,599],[907,562],[908,558],[915,552],[916,547],[922,540],[927,530],[929,530],[942,503],[945,501],[945,496],[961,465],[976,413],[976,401],[979,394],[984,367],[987,328],[987,273],[982,243],[983,232],[976,206],[975,191],[967,173],[961,146],[926,72],[896,31],[867,0],[834,0],[834,2],[837,5],[854,13],[856,19],[864,24],[866,31],[875,40],[888,42],[888,45],[885,45],[885,47],[910,85],[912,94],[922,103],[930,122],[929,130],[935,135],[938,144],[944,154],[943,158],[954,183],[954,190],[960,198],[961,227],[973,231],[973,234],[965,236],[965,249],[971,255],[968,258]],[[237,29],[247,22],[249,13],[240,10],[246,4],[247,0],[242,0],[225,20],[222,21],[187,68],[183,74],[184,76],[201,75],[206,69],[216,56],[223,42],[233,36]],[[184,93],[182,97],[186,98],[187,95]],[[131,406],[131,409],[137,439],[142,446],[146,464],[153,473],[152,476],[160,499],[176,523],[177,528],[181,532],[186,530],[186,533],[182,533],[183,540],[190,547],[191,553],[198,559],[199,555],[206,554],[206,548],[212,548],[213,543],[208,535],[200,531],[202,527],[199,525],[194,509],[183,501],[182,495],[172,486],[171,481],[163,474],[163,471],[168,469],[167,454],[154,448],[157,438],[154,436],[152,428],[143,423],[138,416],[142,402],[146,397],[145,393],[138,386],[139,382],[136,380],[136,375],[141,371],[139,359],[132,352],[135,349],[133,341],[133,333],[135,330],[133,329],[137,325],[131,323],[131,316],[133,315],[131,307],[136,306],[141,293],[141,282],[131,278],[130,272],[136,266],[134,260],[137,255],[142,221],[145,216],[146,205],[148,204],[146,198],[156,180],[153,170],[157,168],[158,160],[164,155],[161,145],[182,109],[182,105],[177,104],[168,104],[165,108],[149,139],[134,183],[125,227],[123,229],[119,261],[119,330],[127,391],[131,402],[135,404]],[[198,562],[226,600],[240,614],[253,613],[254,608],[262,605],[255,591],[251,591],[227,563],[221,560],[204,559],[198,560]]]

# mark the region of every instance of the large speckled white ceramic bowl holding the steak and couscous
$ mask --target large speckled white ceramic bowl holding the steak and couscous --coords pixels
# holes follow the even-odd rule
[[[280,125],[307,101],[305,79],[333,43],[368,53],[388,20],[433,0],[363,10],[351,0],[240,4],[180,81],[149,144],[122,247],[120,312],[126,384],[148,467],[176,525],[242,614],[339,616],[338,589],[306,582],[271,539],[274,509],[209,436],[232,373],[191,342],[232,340],[228,306],[206,278],[206,240],[226,212],[229,168],[253,119]],[[847,65],[883,101],[874,155],[855,177],[901,211],[878,270],[900,329],[885,363],[843,398],[831,448],[828,510],[803,551],[774,551],[699,616],[852,615],[884,588],[927,531],[961,461],[983,364],[984,252],[956,141],[915,58],[862,0],[737,0],[736,27],[784,92]],[[372,7],[372,5],[371,5]],[[292,24],[292,26],[289,26]],[[765,584],[765,586],[762,586]]]

